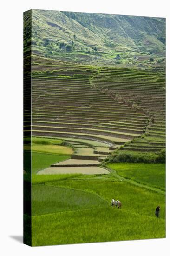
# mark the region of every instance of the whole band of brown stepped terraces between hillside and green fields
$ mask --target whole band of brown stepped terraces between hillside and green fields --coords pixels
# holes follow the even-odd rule
[[[32,63],[33,135],[83,141],[74,144],[76,159],[102,159],[124,143],[120,149],[126,151],[165,148],[163,73],[73,66],[36,56]]]

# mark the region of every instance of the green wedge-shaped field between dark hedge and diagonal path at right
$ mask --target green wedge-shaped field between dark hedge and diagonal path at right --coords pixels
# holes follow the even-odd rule
[[[115,163],[108,167],[124,178],[165,190],[165,164]]]

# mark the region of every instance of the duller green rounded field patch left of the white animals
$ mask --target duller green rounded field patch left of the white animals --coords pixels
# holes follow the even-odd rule
[[[33,216],[108,205],[97,195],[78,189],[59,188],[52,184],[33,186]]]

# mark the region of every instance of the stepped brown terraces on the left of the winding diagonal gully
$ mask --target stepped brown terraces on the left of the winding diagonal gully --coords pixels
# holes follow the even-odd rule
[[[72,67],[67,62],[40,57],[33,57],[32,63],[33,135],[75,138],[107,145],[102,150],[78,144],[73,158],[89,160],[105,158],[111,150],[143,135],[147,126],[146,114],[98,88],[99,82],[103,86],[100,79],[103,69]],[[29,120],[30,114],[25,114],[25,120]],[[25,122],[25,130],[29,131],[29,128],[30,124]]]

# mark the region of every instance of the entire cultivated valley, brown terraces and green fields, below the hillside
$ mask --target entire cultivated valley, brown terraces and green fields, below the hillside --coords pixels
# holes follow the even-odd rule
[[[33,154],[40,159],[32,176],[32,244],[164,237],[164,167],[157,166],[160,184],[152,165],[101,166],[115,149],[154,153],[165,148],[164,74],[37,56],[32,64],[32,95],[25,87],[32,113],[24,109],[24,133],[29,136],[32,129]],[[30,82],[27,74],[25,81]],[[61,154],[63,146],[70,147],[68,155]],[[121,199],[122,210],[111,208],[111,198]],[[160,219],[154,216],[158,204]]]

